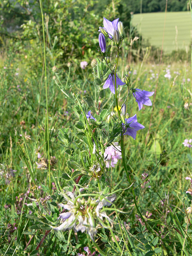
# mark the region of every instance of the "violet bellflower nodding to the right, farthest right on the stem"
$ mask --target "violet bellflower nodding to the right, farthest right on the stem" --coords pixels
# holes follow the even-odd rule
[[[140,89],[133,89],[133,96],[136,99],[136,102],[138,103],[139,110],[142,109],[143,104],[146,106],[152,106],[152,102],[149,99],[150,96],[152,96],[154,92],[148,92]]]

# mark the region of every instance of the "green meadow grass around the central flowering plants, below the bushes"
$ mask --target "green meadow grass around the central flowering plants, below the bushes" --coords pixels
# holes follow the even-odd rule
[[[39,47],[39,48],[38,48]],[[76,99],[73,91],[77,91],[78,100],[83,104],[82,97],[88,93],[94,96],[90,63],[82,70],[80,61],[71,63],[68,69],[53,69],[48,59],[48,121],[51,157],[51,192],[47,162],[46,133],[46,98],[42,82],[43,57],[39,54],[40,46],[32,42],[20,53],[7,48],[1,58],[0,69],[0,253],[2,255],[27,255],[34,251],[42,240],[47,227],[37,231],[32,221],[26,217],[30,213],[32,202],[44,205],[50,196],[66,186],[62,177],[68,172],[68,156],[58,142],[58,129],[69,127],[72,134],[76,130],[76,116],[72,106]],[[126,62],[126,60],[124,60]],[[158,247],[162,254],[183,255],[186,222],[185,209],[191,204],[190,180],[192,178],[190,157],[191,148],[184,147],[182,142],[192,138],[191,108],[192,87],[191,67],[189,63],[171,63],[155,65],[145,59],[143,63],[126,63],[130,65],[120,70],[122,76],[130,74],[132,87],[155,91],[153,106],[144,106],[138,111],[134,98],[128,97],[128,114],[137,114],[138,121],[146,127],[140,130],[136,140],[125,139],[126,165],[130,180],[134,182],[136,200],[142,216],[154,236],[158,236]],[[124,66],[126,66],[126,64]],[[55,73],[56,72],[56,73]],[[70,75],[69,75],[70,72]],[[55,77],[54,77],[55,76]],[[59,76],[61,84],[56,76]],[[68,81],[68,84],[66,82]],[[59,86],[56,85],[56,82]],[[65,94],[62,91],[65,90]],[[126,86],[118,88],[120,97],[126,95]],[[106,90],[105,107],[114,110],[115,99]],[[188,105],[186,104],[188,103]],[[184,107],[185,104],[185,107]],[[188,106],[188,107],[186,107]],[[187,109],[186,109],[187,108]],[[76,137],[75,144],[80,140]],[[163,157],[160,154],[163,153]],[[161,162],[159,163],[161,159]],[[41,168],[37,168],[41,167]],[[126,179],[121,160],[109,172],[111,187],[117,193],[116,207],[122,209],[120,218],[130,225],[129,235],[137,239],[136,228],[142,223],[134,208],[133,195]],[[34,177],[34,178],[32,178]],[[148,177],[148,179],[146,179]],[[186,191],[189,193],[186,194]],[[57,201],[56,201],[57,202]],[[55,202],[53,202],[55,203]],[[54,205],[54,204],[53,204]],[[30,205],[31,206],[31,205]],[[55,205],[54,205],[55,206]],[[32,206],[31,206],[32,207]],[[126,213],[124,213],[126,212]],[[114,217],[114,221],[115,221]],[[144,223],[142,223],[144,224]],[[108,231],[106,231],[107,233]],[[108,233],[107,233],[108,234]],[[191,228],[184,253],[191,255]],[[121,233],[119,231],[118,236]],[[110,237],[110,235],[108,234]],[[83,248],[83,234],[78,233],[69,239],[68,232],[64,236],[47,236],[41,246],[42,255],[75,255]],[[142,244],[135,238],[136,248]],[[104,248],[100,241],[100,246]],[[134,254],[134,246],[130,247]],[[64,250],[66,247],[70,249]],[[144,247],[141,248],[144,250]],[[82,249],[83,250],[83,249]],[[34,251],[34,254],[38,251]],[[145,255],[145,251],[143,254]]]

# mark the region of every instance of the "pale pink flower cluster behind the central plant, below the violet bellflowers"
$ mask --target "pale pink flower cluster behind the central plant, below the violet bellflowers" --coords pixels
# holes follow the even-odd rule
[[[109,146],[106,148],[104,152],[104,158],[106,159],[106,168],[110,168],[110,166],[115,167],[118,159],[121,159],[121,148],[118,146],[118,143],[115,142],[114,146]]]

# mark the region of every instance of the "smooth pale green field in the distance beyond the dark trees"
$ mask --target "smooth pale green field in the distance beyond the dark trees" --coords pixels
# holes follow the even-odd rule
[[[192,39],[192,21],[190,12],[168,12],[164,30],[165,13],[144,13],[134,14],[133,25],[144,39],[148,39],[150,44],[162,46],[163,34],[164,52],[184,49],[188,50]],[[187,49],[186,49],[187,48]]]

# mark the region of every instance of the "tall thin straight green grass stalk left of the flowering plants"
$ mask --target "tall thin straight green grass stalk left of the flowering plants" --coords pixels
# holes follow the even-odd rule
[[[51,170],[50,170],[50,150],[49,150],[49,122],[48,122],[48,89],[47,89],[47,71],[46,71],[46,50],[45,50],[45,32],[44,32],[44,19],[43,19],[43,3],[40,0],[40,9],[42,15],[43,27],[43,46],[44,46],[44,63],[45,63],[45,92],[46,92],[46,133],[47,133],[47,154],[48,154],[48,168],[49,168],[49,189],[51,192]]]

